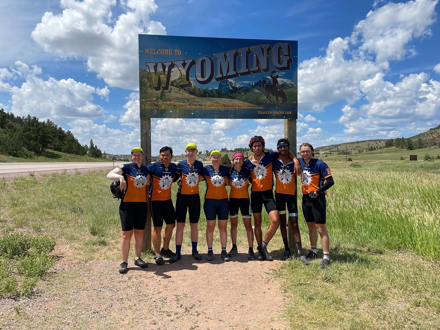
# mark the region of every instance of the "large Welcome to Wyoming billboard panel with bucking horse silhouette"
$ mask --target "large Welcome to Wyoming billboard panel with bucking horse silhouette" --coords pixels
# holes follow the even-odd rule
[[[139,34],[141,118],[297,119],[298,42]]]

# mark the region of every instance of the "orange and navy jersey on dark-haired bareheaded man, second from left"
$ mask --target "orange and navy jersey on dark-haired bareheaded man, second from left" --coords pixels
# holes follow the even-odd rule
[[[169,163],[165,167],[160,161],[147,166],[151,174],[150,191],[148,199],[150,201],[166,201],[171,198],[171,185],[176,175],[176,164]]]

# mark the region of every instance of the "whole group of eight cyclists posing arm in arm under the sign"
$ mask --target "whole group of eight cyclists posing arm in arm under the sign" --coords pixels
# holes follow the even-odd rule
[[[133,148],[131,152],[133,162],[120,165],[107,175],[110,180],[119,180],[119,189],[124,191],[119,207],[122,225],[122,263],[119,272],[127,272],[128,252],[133,234],[135,265],[141,268],[146,268],[148,265],[140,258],[143,230],[147,219],[147,201],[150,202],[154,226],[152,242],[155,263],[164,264],[163,257],[165,256],[169,257],[170,263],[180,260],[187,214],[191,230],[192,257],[195,260],[202,259],[197,249],[198,222],[201,211],[198,187],[201,181],[206,183],[203,203],[208,246],[206,260],[214,258],[213,235],[216,224],[220,233],[221,258],[229,261],[238,253],[237,227],[240,212],[249,244],[248,260],[255,259],[254,234],[257,241],[257,259],[273,260],[268,253],[267,246],[278,227],[280,227],[285,246],[280,259],[289,259],[292,254],[287,239],[287,219],[289,219],[301,262],[307,265],[309,260],[316,258],[319,233],[323,248],[323,260],[320,267],[325,268],[330,265],[325,198],[326,190],[334,184],[330,169],[323,161],[314,158],[314,149],[309,143],[301,144],[300,159],[297,159],[289,150],[288,139],[278,140],[277,151],[265,152],[264,147],[264,139],[261,136],[252,137],[249,141],[249,148],[253,154],[248,158],[245,158],[242,153],[234,154],[231,166],[220,164],[221,153],[218,150],[211,151],[211,164],[203,166],[203,163],[196,159],[198,150],[195,143],[187,144],[185,148],[187,159],[178,164],[171,162],[171,147],[162,147],[159,154],[160,161],[147,166],[142,165],[143,150],[139,147]],[[309,229],[311,250],[307,256],[304,256],[298,227],[295,175],[301,176],[302,209]],[[273,176],[275,176],[275,198]],[[176,209],[171,199],[173,182],[178,184]],[[227,185],[231,187],[229,198]],[[250,197],[249,185],[251,185]],[[270,225],[264,237],[261,229],[263,206],[270,219]],[[231,223],[232,241],[232,248],[229,252],[226,250],[228,218]],[[166,227],[162,235],[163,222]],[[176,252],[174,253],[169,248],[169,243],[176,223]]]

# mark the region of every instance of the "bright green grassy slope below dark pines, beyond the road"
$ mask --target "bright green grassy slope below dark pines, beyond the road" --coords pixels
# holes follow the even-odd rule
[[[98,161],[109,161],[106,158],[92,158],[88,156],[78,156],[73,154],[66,154],[61,151],[55,151],[46,149],[44,153],[40,154],[38,157],[35,158],[18,158],[18,157],[12,157],[12,156],[6,156],[0,154],[0,163],[11,163],[11,162],[17,162],[17,163],[45,163],[48,161],[54,161],[54,162],[98,162]]]

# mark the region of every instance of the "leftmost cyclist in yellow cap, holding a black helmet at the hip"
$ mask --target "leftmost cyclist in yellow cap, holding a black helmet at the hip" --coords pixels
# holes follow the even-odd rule
[[[122,263],[119,272],[125,274],[128,267],[128,253],[134,234],[133,249],[135,252],[135,265],[146,268],[148,264],[140,258],[143,230],[147,221],[147,186],[150,184],[147,166],[142,165],[144,158],[140,147],[132,149],[132,163],[119,165],[107,174],[107,179],[119,180],[119,189],[125,190],[119,205],[121,217],[122,237],[121,255]]]

